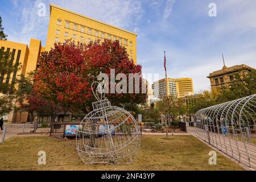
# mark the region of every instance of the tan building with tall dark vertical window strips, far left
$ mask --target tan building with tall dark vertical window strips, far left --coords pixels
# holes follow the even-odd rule
[[[11,64],[15,66],[14,72],[12,73],[0,73],[1,84],[11,84],[9,88],[11,94],[14,86],[16,86],[15,79],[18,78],[19,75],[25,75],[36,69],[38,58],[40,53],[44,51],[44,47],[42,47],[40,40],[31,39],[29,46],[8,40],[0,40],[0,48],[10,53],[11,60],[13,60]],[[20,65],[20,69],[18,69],[18,65]],[[28,113],[10,113],[5,116],[5,118],[7,117],[9,122],[27,122]]]

